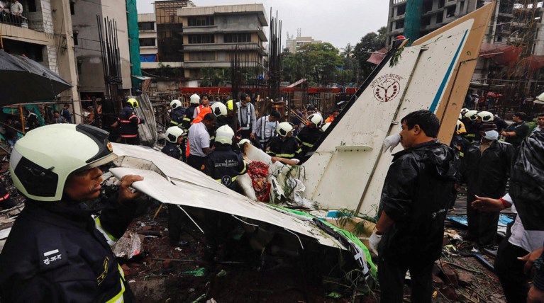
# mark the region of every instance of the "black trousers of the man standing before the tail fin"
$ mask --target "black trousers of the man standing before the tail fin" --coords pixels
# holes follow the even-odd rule
[[[399,303],[404,295],[404,277],[410,270],[411,302],[431,303],[433,297],[433,262],[397,265],[378,260],[380,302]]]

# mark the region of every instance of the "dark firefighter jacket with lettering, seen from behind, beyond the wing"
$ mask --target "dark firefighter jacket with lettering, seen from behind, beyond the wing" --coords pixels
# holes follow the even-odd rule
[[[248,171],[242,154],[238,154],[225,144],[216,144],[206,159],[206,175],[215,181],[234,189],[236,177]]]

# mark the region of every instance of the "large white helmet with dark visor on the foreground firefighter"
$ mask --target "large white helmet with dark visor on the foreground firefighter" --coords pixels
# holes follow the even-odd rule
[[[27,198],[61,200],[70,173],[117,158],[108,135],[84,124],[53,124],[30,130],[11,153],[9,171],[13,184]]]

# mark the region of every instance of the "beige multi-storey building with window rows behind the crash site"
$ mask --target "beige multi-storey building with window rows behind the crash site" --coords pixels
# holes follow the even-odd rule
[[[143,74],[169,66],[192,86],[209,69],[231,67],[234,56],[245,60],[244,66],[262,67],[266,26],[262,4],[194,6],[191,1],[155,1],[155,13],[138,15]]]

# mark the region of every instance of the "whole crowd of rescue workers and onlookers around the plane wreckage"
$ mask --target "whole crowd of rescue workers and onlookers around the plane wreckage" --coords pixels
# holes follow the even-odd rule
[[[139,144],[138,125],[145,122],[136,114],[138,105],[136,99],[128,99],[118,117],[126,144]],[[274,111],[257,118],[245,94],[238,102],[211,105],[208,96],[194,94],[189,108],[177,100],[170,105],[162,152],[233,190],[236,178],[248,171],[238,144],[251,142],[272,159],[304,159],[331,123],[315,108],[306,108],[304,115],[295,110],[298,125],[280,122],[282,115]],[[338,114],[335,110],[327,120]],[[411,302],[431,302],[444,220],[463,183],[469,225],[465,239],[473,241],[475,249],[496,253],[496,274],[508,302],[543,302],[544,113],[538,115],[534,130],[526,118],[525,113],[515,113],[508,125],[494,113],[463,109],[448,147],[437,139],[438,118],[418,110],[401,119],[399,134],[384,140],[384,151],[398,144],[404,150],[393,155],[369,239],[370,251],[378,259],[381,302],[402,302],[408,270]],[[11,176],[27,202],[0,255],[0,295],[6,302],[134,301],[109,246],[133,219],[137,207],[133,200],[140,193],[129,187],[143,178],[124,177],[118,194],[110,197],[99,216],[91,217],[96,210],[84,204],[99,198],[98,166],[116,158],[108,135],[90,125],[58,123],[28,132],[15,145]],[[518,216],[496,247],[499,211],[507,207]],[[180,216],[176,207],[169,209],[173,246],[187,244],[179,238]],[[220,224],[228,222],[207,221],[211,223],[203,227],[206,245],[217,245],[209,237],[224,232]],[[12,262],[15,259],[21,262]],[[98,277],[96,268],[103,270]]]

